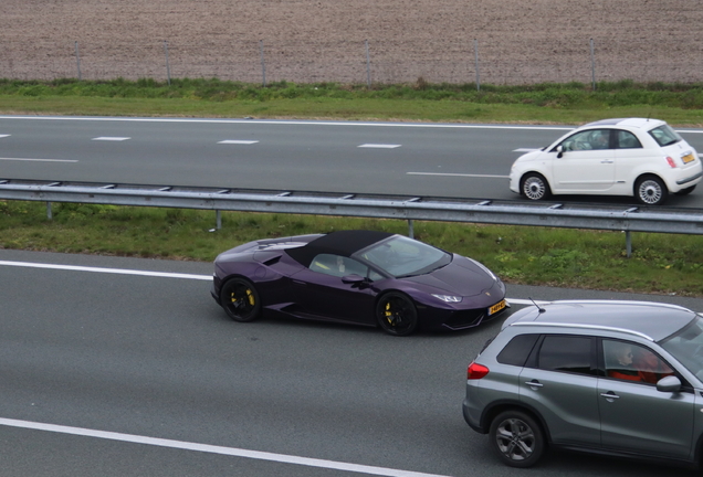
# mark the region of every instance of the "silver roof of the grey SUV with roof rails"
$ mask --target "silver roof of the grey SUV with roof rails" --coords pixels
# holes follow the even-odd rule
[[[696,314],[676,305],[651,301],[563,300],[526,307],[503,325],[592,328],[639,335],[659,341],[680,330]]]

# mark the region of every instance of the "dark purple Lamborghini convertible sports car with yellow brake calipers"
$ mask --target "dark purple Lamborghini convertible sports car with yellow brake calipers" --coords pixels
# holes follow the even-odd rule
[[[235,321],[277,315],[396,336],[471,328],[508,306],[503,282],[479,262],[375,231],[240,245],[216,258],[211,293]]]

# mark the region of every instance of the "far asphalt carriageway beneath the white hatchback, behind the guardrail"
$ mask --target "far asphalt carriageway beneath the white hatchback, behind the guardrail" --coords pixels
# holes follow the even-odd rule
[[[516,199],[507,181],[513,161],[569,129],[0,116],[0,179]],[[703,151],[703,130],[679,131]],[[668,205],[703,208],[703,190]]]

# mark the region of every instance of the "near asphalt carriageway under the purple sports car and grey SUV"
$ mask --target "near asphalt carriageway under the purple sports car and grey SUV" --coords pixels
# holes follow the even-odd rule
[[[501,320],[459,333],[237,324],[211,265],[0,251],[0,475],[522,476],[461,415]],[[703,300],[508,286],[527,298]],[[553,452],[531,475],[685,469]]]

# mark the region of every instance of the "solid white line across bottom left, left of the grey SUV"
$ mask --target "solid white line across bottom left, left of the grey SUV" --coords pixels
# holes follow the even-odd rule
[[[132,444],[145,444],[158,447],[168,447],[183,451],[196,451],[210,454],[221,454],[233,457],[244,457],[259,460],[269,460],[283,464],[304,465],[308,467],[319,467],[335,470],[346,470],[367,475],[388,477],[447,477],[437,474],[416,473],[410,470],[398,470],[386,467],[366,466],[360,464],[349,464],[336,460],[316,459],[309,457],[298,457],[285,454],[274,454],[259,451],[248,451],[237,447],[223,447],[208,444],[189,443],[183,441],[172,441],[157,437],[146,437],[135,434],[123,434],[107,431],[96,431],[83,427],[71,427],[55,424],[35,423],[30,421],[19,421],[0,417],[0,425],[19,427],[34,431],[46,431],[60,434],[71,434],[84,437],[95,437],[108,441],[126,442]]]

